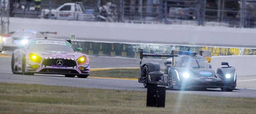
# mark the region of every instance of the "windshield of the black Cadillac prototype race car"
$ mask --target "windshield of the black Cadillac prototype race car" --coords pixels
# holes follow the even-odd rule
[[[198,57],[178,57],[174,63],[176,67],[186,67],[186,68],[193,68],[193,67],[200,67],[200,68],[209,68],[209,63],[204,58]]]

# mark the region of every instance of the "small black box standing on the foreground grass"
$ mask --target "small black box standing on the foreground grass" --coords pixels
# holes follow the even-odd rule
[[[147,106],[164,107],[165,89],[166,87],[148,86]]]

